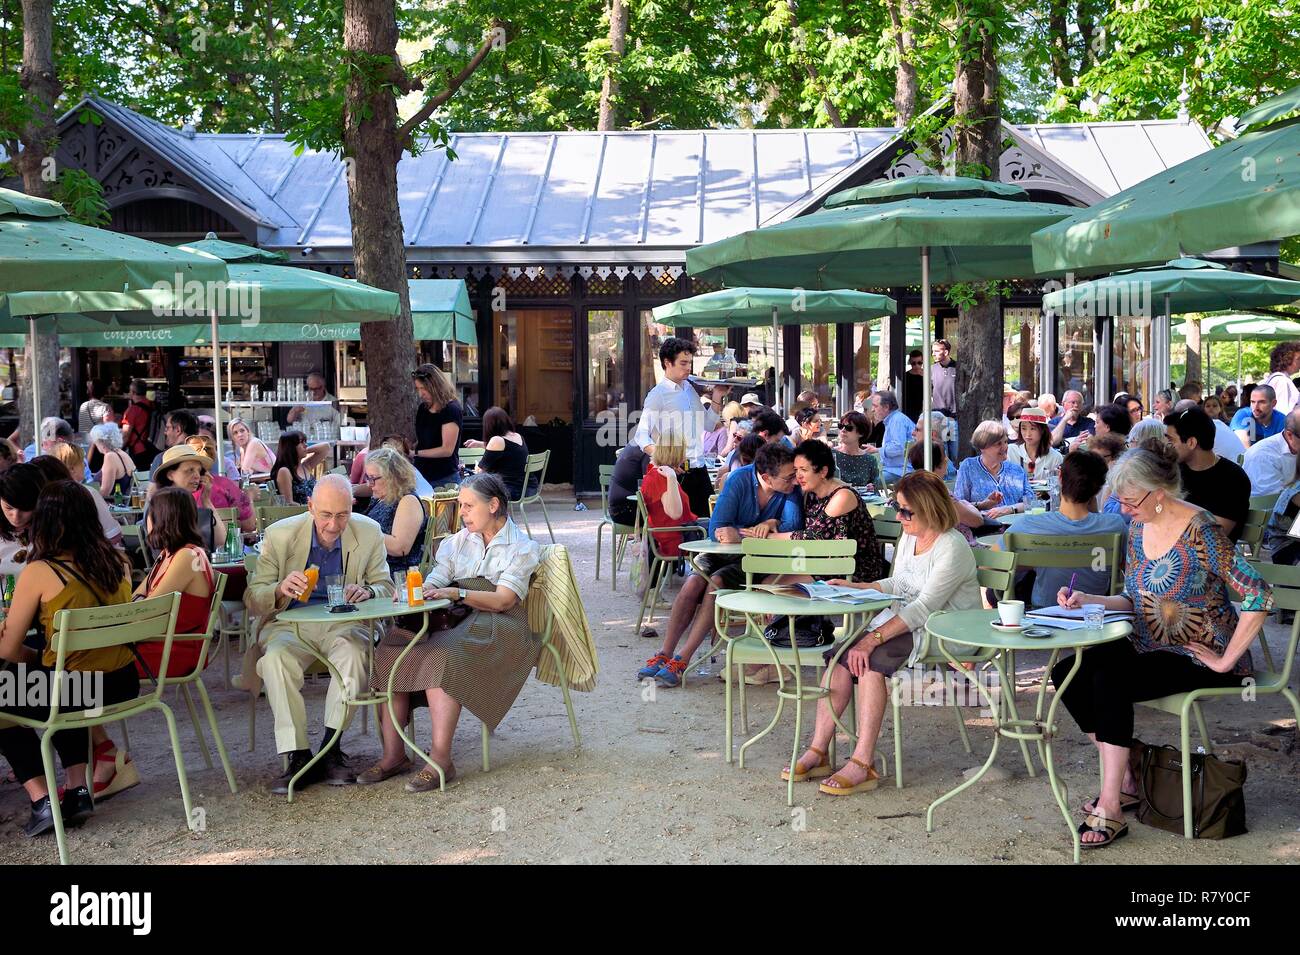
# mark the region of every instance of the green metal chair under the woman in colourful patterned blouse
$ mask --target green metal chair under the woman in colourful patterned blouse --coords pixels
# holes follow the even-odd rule
[[[1260,576],[1273,587],[1273,596],[1278,609],[1297,611],[1295,621],[1291,624],[1291,639],[1282,657],[1282,667],[1254,672],[1253,685],[1243,686],[1216,686],[1191,693],[1175,693],[1160,699],[1140,700],[1140,704],[1164,713],[1173,713],[1179,721],[1179,751],[1183,764],[1183,837],[1195,838],[1192,832],[1192,743],[1190,717],[1196,717],[1196,728],[1200,730],[1205,752],[1214,752],[1214,743],[1210,742],[1209,730],[1205,728],[1205,716],[1201,713],[1201,700],[1231,699],[1254,700],[1261,695],[1280,694],[1291,704],[1295,713],[1296,725],[1300,726],[1300,696],[1296,696],[1287,683],[1291,680],[1291,669],[1295,667],[1296,644],[1300,642],[1300,567],[1286,564],[1268,564],[1251,561],[1251,565],[1260,572]],[[1260,643],[1264,643],[1264,634],[1260,634]]]

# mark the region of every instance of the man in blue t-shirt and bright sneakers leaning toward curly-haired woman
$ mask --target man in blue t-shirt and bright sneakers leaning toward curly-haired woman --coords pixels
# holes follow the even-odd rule
[[[758,450],[754,463],[737,468],[727,478],[712,516],[708,539],[734,544],[746,537],[798,530],[803,526],[803,505],[794,486],[794,453],[780,442]],[[655,680],[659,686],[677,686],[690,657],[714,631],[714,591],[745,586],[738,555],[699,557],[703,574],[692,574],[673,600],[659,652],[646,660],[637,680]],[[686,630],[686,644],[673,654]]]

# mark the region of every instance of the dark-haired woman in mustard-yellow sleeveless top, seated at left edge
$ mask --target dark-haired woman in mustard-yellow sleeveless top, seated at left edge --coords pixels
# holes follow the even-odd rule
[[[17,664],[16,685],[23,693],[13,704],[0,706],[0,713],[13,713],[43,720],[49,713],[51,674],[55,667],[55,615],[62,609],[103,607],[131,599],[131,576],[122,552],[103,534],[87,534],[86,528],[98,522],[92,491],[72,481],[55,481],[42,490],[31,518],[32,552],[27,568],[18,578],[9,616],[0,631],[0,659]],[[27,630],[35,628],[35,646],[25,644]],[[39,648],[38,648],[39,647]],[[133,699],[140,691],[135,660],[127,647],[104,647],[69,654],[68,670],[101,673],[84,682],[69,681],[69,699],[61,712],[74,712],[98,706],[110,706]],[[10,678],[14,674],[10,673]],[[34,687],[42,689],[39,698]],[[92,689],[92,699],[82,694]],[[62,687],[61,687],[62,689]],[[68,774],[61,808],[64,822],[83,819],[94,808],[87,787],[88,758],[86,730],[62,730],[55,734],[55,750]],[[16,778],[31,799],[27,835],[39,835],[55,828],[49,806],[49,789],[40,761],[40,741],[25,726],[0,729],[0,754],[9,760]]]

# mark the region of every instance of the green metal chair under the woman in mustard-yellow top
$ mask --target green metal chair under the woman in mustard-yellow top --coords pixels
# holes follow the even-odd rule
[[[181,802],[185,807],[186,826],[194,829],[195,815],[190,802],[190,783],[185,776],[185,759],[181,756],[181,739],[176,730],[176,716],[162,702],[164,683],[159,683],[148,694],[135,699],[112,703],[91,711],[62,712],[60,693],[73,682],[68,676],[68,655],[87,650],[107,650],[109,647],[129,647],[140,641],[162,641],[161,664],[165,668],[172,655],[172,638],[176,633],[176,615],[181,607],[179,594],[155,596],[148,600],[135,600],[109,607],[90,607],[84,609],[58,611],[55,615],[51,635],[55,648],[55,667],[51,670],[51,707],[44,720],[5,713],[6,722],[27,726],[40,733],[40,760],[46,769],[46,786],[51,794],[51,808],[55,816],[55,841],[58,843],[58,861],[68,864],[68,835],[64,832],[64,817],[58,806],[58,780],[55,774],[55,733],[61,730],[87,730],[87,756],[90,754],[91,726],[120,722],[129,716],[143,716],[151,709],[160,709],[166,720],[168,735],[172,739],[172,755],[176,759],[176,773],[181,782]],[[86,769],[87,776],[91,767]]]

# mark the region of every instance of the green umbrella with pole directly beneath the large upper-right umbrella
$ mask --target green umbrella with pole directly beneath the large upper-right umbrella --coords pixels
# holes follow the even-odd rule
[[[1175,313],[1283,305],[1300,300],[1300,282],[1232,272],[1202,259],[1174,259],[1157,269],[1132,269],[1058,288],[1043,308],[1066,316],[1164,316],[1152,326],[1152,381],[1169,374],[1170,324]],[[1156,304],[1162,308],[1157,311]]]

